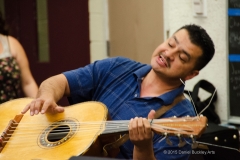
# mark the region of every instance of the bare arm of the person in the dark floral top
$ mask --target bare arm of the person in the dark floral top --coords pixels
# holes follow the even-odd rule
[[[29,68],[26,53],[17,39],[8,36],[11,54],[16,58],[21,71],[21,86],[25,96],[36,97],[38,86]]]

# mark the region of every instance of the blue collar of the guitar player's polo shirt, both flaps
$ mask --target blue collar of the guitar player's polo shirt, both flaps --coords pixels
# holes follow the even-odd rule
[[[151,69],[152,67],[150,65],[145,65],[140,69],[136,70],[133,74],[137,77],[137,79],[141,79],[145,77]],[[178,96],[180,93],[183,93],[183,91],[184,85],[182,84],[178,88],[171,90],[167,93],[164,93],[163,95],[155,98],[161,99],[163,101],[163,105],[169,105],[174,101],[175,97]]]

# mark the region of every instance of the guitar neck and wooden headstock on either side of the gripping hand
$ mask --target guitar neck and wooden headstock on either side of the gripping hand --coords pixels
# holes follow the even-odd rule
[[[204,116],[163,118],[149,119],[149,122],[152,130],[157,134],[199,137],[206,127],[207,118]],[[103,125],[102,134],[126,133],[128,132],[129,120],[106,121]]]

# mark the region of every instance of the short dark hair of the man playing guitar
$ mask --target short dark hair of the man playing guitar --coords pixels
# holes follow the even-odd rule
[[[178,29],[177,31],[181,29],[187,30],[190,41],[202,49],[203,54],[201,57],[199,57],[194,68],[196,70],[201,70],[208,64],[208,62],[214,56],[215,53],[214,43],[210,36],[208,35],[208,33],[206,32],[206,30],[198,25],[195,24],[185,25]]]

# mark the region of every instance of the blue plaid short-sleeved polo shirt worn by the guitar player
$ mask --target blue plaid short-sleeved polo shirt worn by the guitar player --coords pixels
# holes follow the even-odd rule
[[[85,67],[64,72],[71,96],[70,103],[100,101],[104,103],[113,120],[130,120],[134,117],[147,117],[150,110],[169,105],[182,93],[184,86],[159,97],[139,97],[142,78],[151,70],[150,65],[127,58],[115,57],[96,61]],[[195,116],[191,102],[179,102],[161,117]],[[154,154],[157,159],[188,159],[191,145],[179,148],[177,137],[169,138],[173,145],[166,143],[164,136],[154,134]],[[120,147],[118,158],[132,159],[133,144],[127,141]]]

